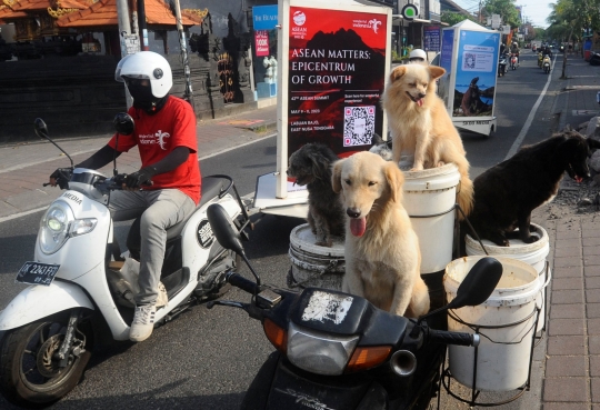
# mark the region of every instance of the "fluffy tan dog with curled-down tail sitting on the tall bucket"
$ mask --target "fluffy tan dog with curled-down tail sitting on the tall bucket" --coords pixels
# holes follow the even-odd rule
[[[444,73],[444,69],[434,66],[397,67],[383,91],[382,106],[392,133],[393,161],[398,163],[406,152],[414,156],[412,171],[454,163],[460,172],[458,202],[469,214],[473,183],[467,153],[443,101],[436,93],[436,80]]]

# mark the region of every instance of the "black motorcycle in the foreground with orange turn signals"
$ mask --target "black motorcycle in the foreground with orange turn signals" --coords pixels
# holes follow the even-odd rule
[[[439,393],[447,344],[478,346],[479,336],[432,329],[448,309],[484,302],[502,276],[481,259],[448,304],[419,319],[377,309],[368,300],[320,288],[292,292],[261,284],[234,224],[219,204],[208,209],[219,243],[238,253],[254,281],[231,272],[227,281],[252,294],[250,303],[213,301],[260,320],[276,347],[243,399],[242,409],[426,409]]]

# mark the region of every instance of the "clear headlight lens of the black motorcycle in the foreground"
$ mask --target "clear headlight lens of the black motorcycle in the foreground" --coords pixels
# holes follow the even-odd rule
[[[312,373],[338,376],[343,373],[358,342],[358,336],[323,334],[290,322],[288,359],[300,369]]]

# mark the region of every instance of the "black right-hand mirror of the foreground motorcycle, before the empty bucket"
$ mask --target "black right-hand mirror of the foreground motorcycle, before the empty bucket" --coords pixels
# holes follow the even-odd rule
[[[457,290],[457,297],[446,306],[459,309],[483,303],[496,289],[502,277],[502,263],[494,258],[481,258],[471,268]]]

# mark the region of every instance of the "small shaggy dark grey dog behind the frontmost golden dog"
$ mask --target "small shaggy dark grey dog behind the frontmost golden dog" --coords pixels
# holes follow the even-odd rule
[[[309,191],[308,223],[321,247],[331,247],[331,237],[344,236],[346,211],[339,193],[331,188],[331,166],[338,160],[331,149],[321,143],[307,143],[289,159],[288,176]]]

